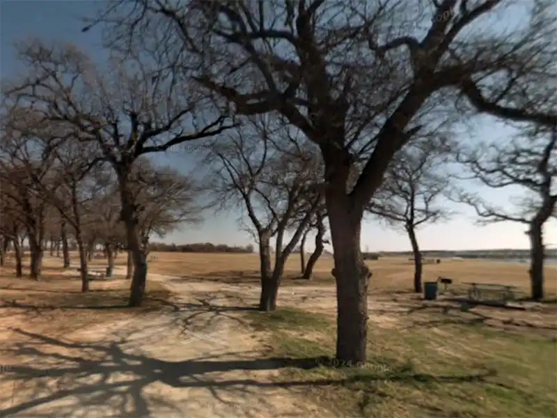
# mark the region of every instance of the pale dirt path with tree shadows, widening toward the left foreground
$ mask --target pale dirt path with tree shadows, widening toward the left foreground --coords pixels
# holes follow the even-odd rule
[[[237,286],[150,279],[180,294],[175,307],[58,339],[12,330],[0,417],[333,417],[303,386],[273,384],[276,362],[226,296]]]

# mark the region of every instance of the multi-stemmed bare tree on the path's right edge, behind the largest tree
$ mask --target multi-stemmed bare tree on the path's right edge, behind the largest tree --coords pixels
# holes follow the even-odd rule
[[[311,159],[304,159],[295,147],[288,155],[277,152],[275,139],[288,135],[269,125],[265,121],[246,123],[225,142],[215,144],[207,156],[214,169],[207,188],[224,208],[242,203],[251,221],[259,247],[261,311],[276,309],[285,263],[322,201]],[[285,235],[301,212],[304,214],[285,244]],[[271,268],[273,237],[275,260]]]

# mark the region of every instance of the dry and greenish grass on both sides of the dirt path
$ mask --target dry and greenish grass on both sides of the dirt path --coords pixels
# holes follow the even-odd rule
[[[105,263],[95,259],[91,267],[100,270]],[[116,264],[125,265],[125,255]],[[286,308],[274,314],[246,314],[260,346],[269,348],[267,355],[290,358],[287,367],[276,372],[278,385],[312,396],[339,416],[554,415],[556,306],[535,311],[476,307],[466,312],[457,304],[423,304],[409,293],[413,265],[406,258],[383,258],[368,265],[373,277],[369,357],[363,369],[325,364],[334,354],[336,315],[330,257],[317,263],[313,280],[304,281],[299,279],[299,258],[292,256],[278,298]],[[510,284],[525,294],[529,290],[527,265],[443,260],[424,270],[426,281],[442,275],[453,278],[455,286],[474,281]],[[154,253],[149,271],[178,277],[176,282],[191,283],[207,295],[223,287],[237,291],[242,300],[232,302],[238,306],[251,305],[258,297],[255,254]],[[13,339],[9,327],[56,338],[143,315],[172,299],[168,290],[148,281],[146,307],[129,309],[125,304],[130,282],[121,276],[93,281],[91,292],[83,294],[79,278],[63,275],[60,258],[47,257],[44,273],[40,281],[31,281],[15,279],[12,265],[0,268],[0,317],[5,327],[0,345]],[[546,274],[547,293],[555,295],[557,266],[547,266]]]

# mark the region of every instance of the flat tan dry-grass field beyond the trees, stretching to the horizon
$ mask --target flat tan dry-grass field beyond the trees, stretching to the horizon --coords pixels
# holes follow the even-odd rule
[[[259,260],[256,254],[152,253],[150,258],[150,271],[159,274],[238,283],[259,281]],[[125,258],[118,261],[125,263]],[[100,262],[102,263],[102,261]],[[371,293],[377,293],[377,291],[390,293],[411,289],[414,266],[407,261],[407,258],[381,258],[378,261],[368,261],[367,263],[373,272],[370,284]],[[291,281],[299,278],[299,265],[299,256],[293,254],[285,268],[285,284],[299,283],[299,281]],[[332,284],[332,268],[333,258],[328,256],[320,258],[315,265],[312,283]],[[439,276],[446,276],[455,279],[457,284],[468,281],[508,284],[517,286],[524,293],[528,293],[530,286],[528,265],[526,264],[446,259],[442,260],[440,264],[428,264],[423,268],[424,281],[435,281]],[[548,295],[556,295],[557,265],[547,265],[546,277]]]

